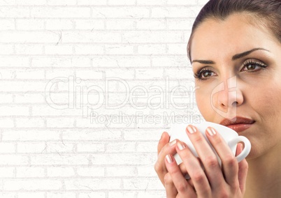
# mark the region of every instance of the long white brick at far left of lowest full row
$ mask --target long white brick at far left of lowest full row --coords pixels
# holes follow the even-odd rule
[[[51,179],[13,179],[3,181],[5,190],[59,190],[62,188],[62,181]]]

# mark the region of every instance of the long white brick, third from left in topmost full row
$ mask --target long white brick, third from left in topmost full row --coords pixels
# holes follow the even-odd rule
[[[141,18],[149,17],[149,8],[132,8],[132,7],[112,7],[112,8],[92,8],[92,17],[124,17],[124,18]]]

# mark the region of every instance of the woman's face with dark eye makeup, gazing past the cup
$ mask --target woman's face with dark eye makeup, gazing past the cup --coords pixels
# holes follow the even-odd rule
[[[281,144],[281,45],[233,14],[197,27],[191,45],[196,102],[206,121],[250,139],[256,158]]]

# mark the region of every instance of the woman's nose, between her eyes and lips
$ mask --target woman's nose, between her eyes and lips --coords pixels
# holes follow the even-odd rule
[[[211,94],[212,108],[226,118],[236,116],[236,107],[242,105],[244,100],[236,76],[224,80]]]

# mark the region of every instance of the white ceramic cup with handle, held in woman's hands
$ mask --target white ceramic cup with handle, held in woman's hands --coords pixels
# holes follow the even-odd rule
[[[187,124],[187,123],[173,124],[170,129],[170,142],[172,142],[174,139],[178,139],[182,142],[185,142],[185,144],[187,144],[187,146],[192,151],[194,156],[199,157],[192,142],[190,141],[189,137],[187,136],[187,133],[186,133],[187,125],[189,125],[189,124]],[[200,124],[192,124],[192,125],[196,126],[196,128],[203,134],[203,136],[207,140],[208,144],[210,144],[210,142],[209,142],[208,138],[206,137],[206,129],[209,126],[212,128],[215,128],[215,130],[217,130],[217,132],[219,132],[219,134],[225,140],[226,144],[229,145],[229,148],[231,148],[233,155],[236,154],[237,144],[239,142],[243,142],[244,143],[243,151],[238,156],[236,156],[236,159],[238,162],[240,162],[241,160],[246,158],[247,155],[250,153],[251,143],[250,143],[249,139],[247,139],[244,136],[238,136],[238,133],[235,130],[232,130],[231,128],[228,128],[224,125],[219,125],[217,123],[207,122],[207,121],[200,123]],[[210,144],[210,147],[212,148],[212,151],[214,151],[215,154],[217,155],[215,148],[213,148],[211,144]],[[174,158],[175,158],[175,161],[178,163],[178,165],[182,162],[182,160],[180,159],[180,155],[178,155],[178,153],[176,153],[174,155]],[[217,160],[219,162],[219,165],[221,165],[222,162],[218,155],[217,155]]]

